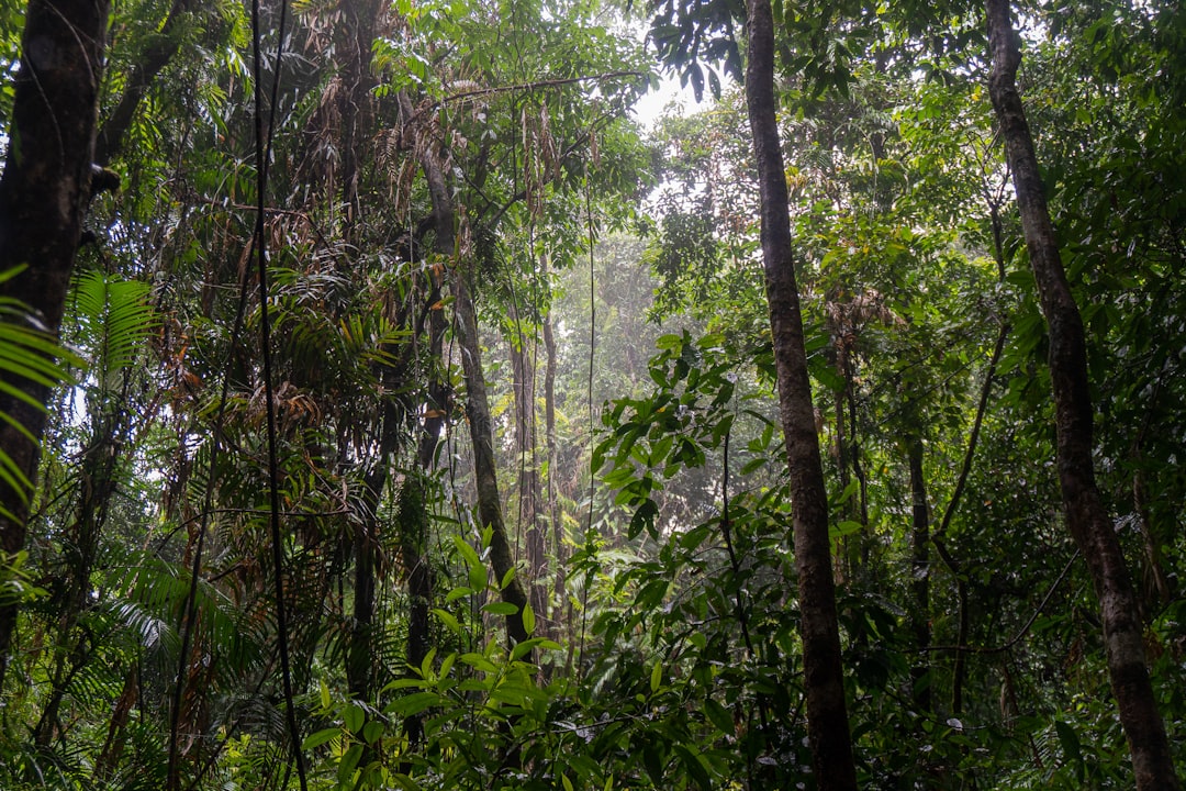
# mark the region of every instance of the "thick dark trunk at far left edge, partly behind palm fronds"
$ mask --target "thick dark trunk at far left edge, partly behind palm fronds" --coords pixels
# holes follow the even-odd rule
[[[21,300],[57,332],[82,232],[95,152],[95,117],[107,37],[108,0],[30,0],[17,71],[8,155],[0,180],[0,270],[25,264],[2,295]],[[33,480],[50,388],[5,375],[31,403],[0,395],[0,448]],[[34,406],[36,404],[36,406]],[[25,548],[28,492],[0,484],[0,549]],[[0,562],[7,562],[0,559]],[[0,689],[17,605],[0,605]]]

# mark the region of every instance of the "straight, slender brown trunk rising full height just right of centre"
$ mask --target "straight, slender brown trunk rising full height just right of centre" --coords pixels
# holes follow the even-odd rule
[[[831,576],[828,493],[811,403],[791,250],[789,196],[776,120],[774,21],[769,0],[747,0],[747,8],[750,62],[745,89],[761,197],[761,253],[778,407],[790,466],[808,736],[818,787],[856,789]]]

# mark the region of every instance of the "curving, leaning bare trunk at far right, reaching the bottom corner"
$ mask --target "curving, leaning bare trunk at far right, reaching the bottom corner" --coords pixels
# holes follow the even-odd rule
[[[1016,88],[1021,39],[1013,28],[1008,0],[986,0],[986,7],[991,55],[989,94],[1013,168],[1026,248],[1050,331],[1058,479],[1066,523],[1088,562],[1099,598],[1108,672],[1133,755],[1136,787],[1174,790],[1180,785],[1144,662],[1136,594],[1116,530],[1096,486],[1083,319],[1059,257],[1033,138]]]

